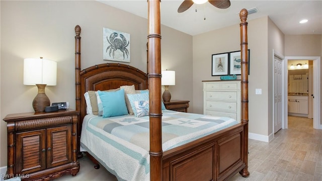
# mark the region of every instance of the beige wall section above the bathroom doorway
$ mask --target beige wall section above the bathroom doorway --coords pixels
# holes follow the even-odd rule
[[[322,36],[285,35],[285,56],[322,56]],[[322,68],[320,68],[320,70],[322,70]],[[322,107],[320,113],[321,112]],[[322,125],[322,120],[320,121],[320,124]]]

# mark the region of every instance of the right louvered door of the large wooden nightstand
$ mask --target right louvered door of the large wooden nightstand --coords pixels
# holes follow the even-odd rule
[[[71,125],[47,129],[47,168],[71,162]]]

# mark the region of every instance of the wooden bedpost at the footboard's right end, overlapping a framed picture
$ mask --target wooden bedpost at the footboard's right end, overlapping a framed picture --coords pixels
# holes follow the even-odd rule
[[[240,17],[240,51],[241,51],[241,123],[245,124],[244,131],[244,161],[245,168],[240,170],[241,176],[249,176],[248,171],[248,37],[247,37],[247,15],[248,11],[243,9]]]

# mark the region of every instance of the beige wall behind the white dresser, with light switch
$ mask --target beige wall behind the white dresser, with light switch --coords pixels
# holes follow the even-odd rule
[[[268,17],[249,21],[249,131],[268,135]],[[203,113],[202,80],[219,80],[211,76],[211,55],[240,50],[239,25],[196,35],[193,37],[193,100],[194,112]],[[219,43],[218,43],[219,42]],[[238,76],[240,78],[240,76]],[[255,95],[262,88],[262,95]]]

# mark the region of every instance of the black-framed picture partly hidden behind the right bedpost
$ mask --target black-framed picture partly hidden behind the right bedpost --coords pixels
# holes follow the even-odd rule
[[[229,75],[240,75],[240,62],[240,51],[229,52]],[[248,74],[250,74],[250,50],[248,50]]]

